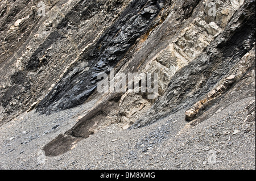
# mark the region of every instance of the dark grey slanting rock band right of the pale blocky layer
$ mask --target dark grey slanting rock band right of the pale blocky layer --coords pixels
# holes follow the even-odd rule
[[[255,45],[255,29],[252,24],[255,21],[255,14],[251,11],[254,6],[255,3],[249,1],[243,2],[239,9],[235,6],[237,11],[234,11],[232,18],[226,22],[228,24],[223,31],[218,36],[212,37],[212,42],[199,56],[171,77],[165,94],[156,101],[142,119],[137,120],[134,124],[135,128],[154,123],[181,108],[192,107],[215,86],[220,85],[221,79],[235,72],[234,69],[240,72],[240,78],[237,80],[240,81],[242,75],[252,68],[254,62],[251,60],[251,63],[248,62],[249,66],[240,65],[238,68],[243,56]],[[200,9],[199,6],[197,8]],[[193,116],[195,111],[189,111],[188,114]]]

